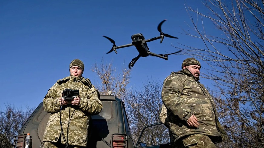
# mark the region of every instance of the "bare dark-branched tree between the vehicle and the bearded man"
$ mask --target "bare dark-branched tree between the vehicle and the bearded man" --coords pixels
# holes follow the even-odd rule
[[[160,122],[159,113],[162,105],[161,101],[162,83],[157,80],[147,80],[140,90],[130,92],[125,97],[126,109],[129,116],[130,128],[134,140],[139,138],[142,129],[150,124]],[[155,126],[148,128],[141,138],[141,142],[149,145],[157,145],[169,141],[167,128]],[[165,136],[166,134],[166,136]]]

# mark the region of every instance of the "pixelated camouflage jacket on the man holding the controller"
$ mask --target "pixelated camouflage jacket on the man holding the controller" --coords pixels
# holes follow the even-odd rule
[[[60,111],[59,98],[65,88],[79,90],[80,105],[63,105]],[[65,139],[70,145],[86,146],[88,140],[89,118],[98,114],[102,108],[99,92],[89,79],[83,77],[65,77],[58,80],[43,99],[44,110],[51,113],[44,132],[43,141],[57,142],[61,134],[60,118]],[[61,136],[61,143],[64,143]]]

